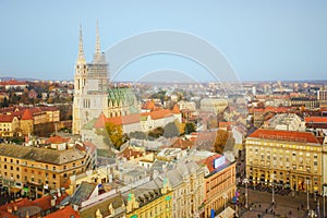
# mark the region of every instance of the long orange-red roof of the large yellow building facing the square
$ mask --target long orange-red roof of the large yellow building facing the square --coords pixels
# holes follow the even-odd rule
[[[259,129],[249,135],[249,137],[320,144],[316,136],[311,132]]]

